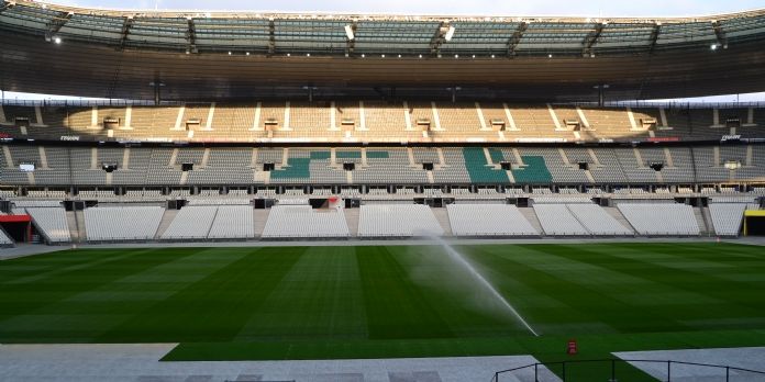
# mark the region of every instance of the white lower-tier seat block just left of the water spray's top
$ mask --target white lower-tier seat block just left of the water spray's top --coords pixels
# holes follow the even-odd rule
[[[422,204],[366,204],[361,206],[358,237],[441,236],[444,229],[430,207]]]

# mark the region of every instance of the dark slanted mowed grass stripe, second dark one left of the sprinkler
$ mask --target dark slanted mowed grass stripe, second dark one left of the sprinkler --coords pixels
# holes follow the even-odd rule
[[[304,249],[228,248],[243,255],[100,336],[104,342],[232,340]]]

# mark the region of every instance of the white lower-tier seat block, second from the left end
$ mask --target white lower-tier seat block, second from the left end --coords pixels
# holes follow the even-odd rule
[[[86,209],[85,231],[88,241],[153,239],[164,212],[158,206]]]

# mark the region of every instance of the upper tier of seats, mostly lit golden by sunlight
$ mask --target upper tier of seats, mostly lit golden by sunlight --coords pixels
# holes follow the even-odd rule
[[[650,136],[720,139],[731,134],[732,130],[725,126],[729,117],[741,120],[742,126],[735,134],[756,137],[765,114],[763,109],[753,109],[750,124],[749,109],[720,110],[716,122],[713,109],[665,109],[662,114],[658,108],[635,108],[630,113],[627,108],[506,108],[501,102],[469,101],[253,101],[175,106],[51,106],[41,108],[43,123],[40,123],[34,106],[4,105],[3,109],[5,123],[0,125],[0,132],[18,138],[59,141],[62,136],[70,136],[79,141],[191,142],[446,143],[550,138],[597,142]],[[16,126],[16,117],[29,120],[30,126]],[[566,125],[567,121],[579,123],[580,131]],[[656,121],[651,132],[644,128],[647,121]],[[109,122],[108,125],[104,126],[104,122]],[[497,131],[502,124],[505,130]]]

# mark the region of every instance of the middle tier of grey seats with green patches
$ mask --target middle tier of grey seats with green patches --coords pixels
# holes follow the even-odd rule
[[[15,145],[0,148],[4,154],[0,155],[0,183],[9,186],[640,184],[765,178],[765,145],[591,149],[213,148],[207,149],[207,155],[203,154],[206,149],[198,148],[62,149]],[[115,158],[109,162],[118,166],[115,171],[108,173],[100,169],[100,164],[97,168],[92,167],[92,158],[101,157],[101,151],[104,151],[104,157]],[[56,160],[51,159],[53,153],[56,153]],[[220,160],[212,161],[211,158]],[[20,164],[26,162],[35,164],[33,172],[19,168]],[[353,164],[355,169],[345,170],[343,164],[346,162]],[[185,172],[182,164],[191,164],[193,169]],[[580,164],[587,165],[586,168],[580,168]],[[274,169],[265,170],[266,165],[274,165]],[[432,165],[433,169],[425,170],[424,165]],[[656,171],[651,165],[662,165],[663,168]],[[159,193],[158,190],[147,191]],[[241,191],[245,190],[235,192]],[[542,189],[540,191],[544,192]],[[633,193],[634,190],[624,189],[624,192]],[[57,190],[33,190],[31,196],[62,198],[64,194],[64,191]],[[84,196],[111,195],[109,191],[85,190]]]

